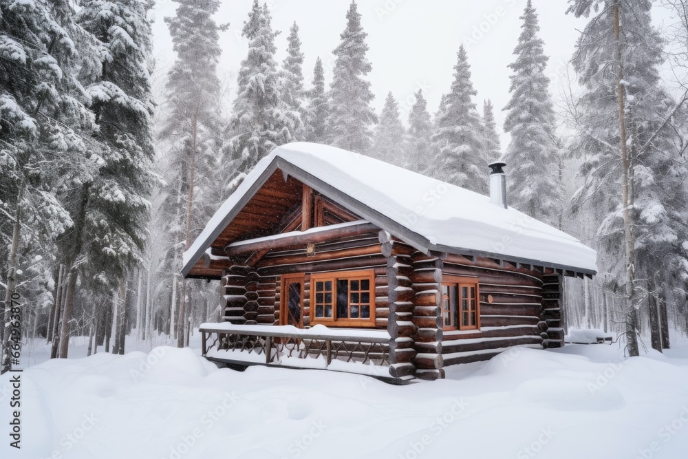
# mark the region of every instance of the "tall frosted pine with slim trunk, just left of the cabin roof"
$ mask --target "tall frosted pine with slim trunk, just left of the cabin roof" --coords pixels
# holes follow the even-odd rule
[[[217,61],[222,52],[219,31],[226,30],[227,26],[217,25],[213,19],[219,8],[217,0],[178,0],[178,3],[176,16],[165,18],[177,59],[168,74],[168,116],[160,136],[169,142],[170,147],[166,158],[168,169],[163,206],[170,217],[171,328],[176,326],[176,337],[181,347],[185,342],[184,325],[188,315],[186,282],[179,275],[181,255],[193,240],[192,231],[196,231],[198,226],[193,224],[194,220],[204,216],[203,212],[195,211],[198,201],[195,193],[202,192],[200,178],[207,178],[214,172],[213,168],[219,165],[222,169],[228,163],[217,163],[222,125],[217,78]],[[178,320],[175,323],[178,299]]]

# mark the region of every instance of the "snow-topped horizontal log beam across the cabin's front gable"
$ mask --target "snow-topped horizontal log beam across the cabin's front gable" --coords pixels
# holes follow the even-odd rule
[[[292,233],[282,233],[270,238],[259,238],[255,241],[241,241],[229,244],[224,251],[228,257],[239,255],[240,253],[257,252],[258,250],[273,250],[289,246],[299,246],[306,244],[317,244],[327,242],[332,239],[343,237],[359,236],[366,233],[379,231],[379,228],[372,223],[350,224],[347,226],[332,225],[320,231],[302,232],[293,231]]]

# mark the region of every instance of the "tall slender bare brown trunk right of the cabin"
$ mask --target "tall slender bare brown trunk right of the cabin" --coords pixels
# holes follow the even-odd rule
[[[638,337],[636,336],[636,305],[634,303],[635,248],[630,206],[631,164],[627,151],[625,103],[623,100],[623,63],[621,62],[621,37],[619,31],[619,0],[614,1],[614,38],[616,39],[616,60],[619,65],[619,78],[616,81],[616,94],[619,100],[619,136],[621,138],[621,206],[623,209],[623,233],[626,255],[626,339],[629,356],[638,356]]]

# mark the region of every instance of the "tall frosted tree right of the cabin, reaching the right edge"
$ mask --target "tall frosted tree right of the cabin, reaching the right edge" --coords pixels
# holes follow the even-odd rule
[[[683,101],[660,86],[663,41],[651,8],[649,0],[586,0],[568,10],[595,13],[572,60],[585,89],[573,146],[582,155],[585,184],[574,198],[594,217],[599,264],[611,274],[604,287],[625,297],[631,355],[638,355],[636,309],[651,299],[641,292],[653,290],[640,279],[653,277],[658,266],[672,274],[656,279],[658,290],[676,288],[670,284],[676,277],[685,289],[688,279],[686,220],[680,217],[688,171],[676,148],[685,139],[674,126]]]

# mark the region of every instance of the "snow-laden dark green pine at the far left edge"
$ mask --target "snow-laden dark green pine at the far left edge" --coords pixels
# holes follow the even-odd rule
[[[20,266],[36,259],[32,251],[47,248],[47,261],[54,261],[52,242],[72,225],[55,193],[71,186],[74,177],[87,180],[94,169],[85,160],[93,116],[77,76],[80,68],[96,61],[96,50],[74,24],[73,13],[64,1],[0,1],[0,277],[6,283],[5,306],[17,288]],[[10,319],[8,312],[0,325]],[[8,329],[0,329],[2,338]],[[6,371],[7,352],[2,360]]]

